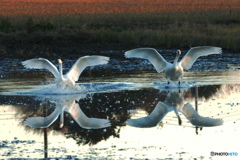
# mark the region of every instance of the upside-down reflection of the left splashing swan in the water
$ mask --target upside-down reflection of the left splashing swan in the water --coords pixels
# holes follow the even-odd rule
[[[79,96],[59,96],[58,99],[55,99],[56,108],[49,116],[29,117],[24,121],[24,125],[33,128],[47,128],[60,116],[60,128],[62,128],[64,125],[64,112],[67,112],[80,127],[85,129],[100,129],[111,126],[108,119],[87,117],[76,102],[79,98]]]

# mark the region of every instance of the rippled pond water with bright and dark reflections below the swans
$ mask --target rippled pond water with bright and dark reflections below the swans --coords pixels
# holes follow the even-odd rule
[[[46,70],[4,59],[0,158],[237,159],[239,57],[229,57],[196,62],[181,87],[146,61],[113,59],[69,90]]]

